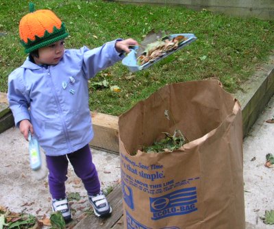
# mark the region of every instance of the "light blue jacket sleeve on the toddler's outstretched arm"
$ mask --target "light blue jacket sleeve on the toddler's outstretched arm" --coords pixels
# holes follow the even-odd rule
[[[106,69],[123,59],[121,53],[117,52],[115,49],[116,41],[120,40],[122,39],[112,40],[101,47],[91,50],[86,47],[82,48],[84,49],[82,69],[86,77],[94,77],[99,71]]]

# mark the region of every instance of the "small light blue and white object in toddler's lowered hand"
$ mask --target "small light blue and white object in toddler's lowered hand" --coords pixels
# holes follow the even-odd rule
[[[32,138],[32,134],[29,132],[29,162],[32,170],[40,169],[42,165],[42,160],[40,156],[39,143],[35,138]]]

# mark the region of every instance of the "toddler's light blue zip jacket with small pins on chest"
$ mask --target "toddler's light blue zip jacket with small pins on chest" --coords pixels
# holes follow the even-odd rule
[[[122,59],[115,41],[96,49],[66,49],[57,65],[41,67],[27,58],[8,78],[8,101],[16,126],[29,119],[49,156],[75,152],[93,138],[88,79]]]

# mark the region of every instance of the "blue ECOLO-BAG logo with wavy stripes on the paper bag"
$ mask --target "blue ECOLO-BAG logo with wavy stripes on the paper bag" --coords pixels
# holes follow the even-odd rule
[[[173,215],[186,215],[197,210],[196,187],[179,189],[162,197],[149,197],[151,219],[157,220]]]

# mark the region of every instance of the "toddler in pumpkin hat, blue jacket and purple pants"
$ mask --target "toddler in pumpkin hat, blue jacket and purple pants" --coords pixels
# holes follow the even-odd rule
[[[88,143],[93,138],[88,106],[88,80],[123,59],[136,40],[117,39],[96,49],[64,49],[69,36],[64,23],[51,10],[34,11],[19,23],[27,60],[8,78],[8,101],[15,125],[23,136],[31,132],[44,149],[49,169],[53,211],[65,221],[71,211],[65,193],[68,163],[82,179],[88,200],[98,217],[112,212],[101,191]]]

